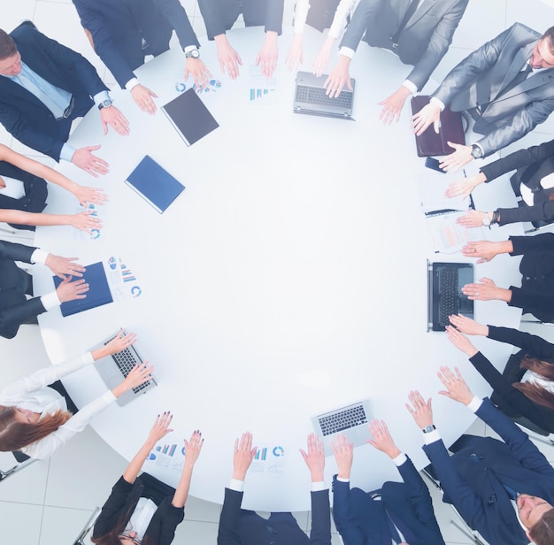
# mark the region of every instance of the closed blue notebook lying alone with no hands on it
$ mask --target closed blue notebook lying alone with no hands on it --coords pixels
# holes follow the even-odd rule
[[[135,170],[125,180],[129,188],[142,196],[160,214],[181,194],[185,188],[179,180],[173,178],[152,157],[145,155]]]

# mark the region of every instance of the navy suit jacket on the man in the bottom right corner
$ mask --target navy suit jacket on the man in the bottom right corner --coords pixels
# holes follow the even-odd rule
[[[512,420],[483,400],[477,416],[505,442],[466,436],[452,457],[442,441],[423,447],[445,492],[462,517],[491,545],[529,542],[503,484],[554,504],[554,468]]]

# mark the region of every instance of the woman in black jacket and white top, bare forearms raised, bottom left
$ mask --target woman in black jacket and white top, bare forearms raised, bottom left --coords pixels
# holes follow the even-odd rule
[[[185,462],[176,488],[170,487],[148,473],[142,464],[156,443],[173,430],[172,415],[159,415],[147,440],[127,465],[123,475],[113,485],[112,494],[104,503],[90,541],[97,545],[169,545],[175,528],[185,517],[192,471],[204,439],[198,431],[185,439]]]

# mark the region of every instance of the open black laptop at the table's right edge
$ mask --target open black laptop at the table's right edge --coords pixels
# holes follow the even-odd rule
[[[462,293],[471,283],[471,263],[427,261],[427,331],[444,331],[450,326],[449,316],[459,312],[473,319],[473,301]]]

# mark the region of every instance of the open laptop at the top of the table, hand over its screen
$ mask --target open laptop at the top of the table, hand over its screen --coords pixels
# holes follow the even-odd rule
[[[327,118],[352,119],[352,107],[354,104],[354,89],[356,81],[352,82],[352,90],[342,89],[336,98],[326,95],[327,89],[323,84],[327,75],[315,76],[309,72],[296,74],[296,92],[293,111],[295,113],[307,113],[321,115]]]

